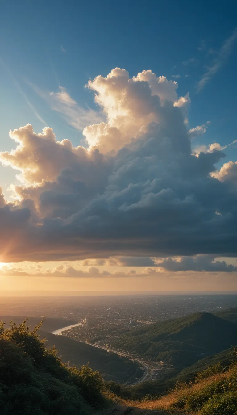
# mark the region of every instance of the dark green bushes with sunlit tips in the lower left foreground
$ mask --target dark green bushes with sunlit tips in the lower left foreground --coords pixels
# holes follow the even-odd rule
[[[1,415],[86,415],[105,406],[103,378],[88,366],[68,368],[45,349],[26,320],[4,330],[0,322]]]

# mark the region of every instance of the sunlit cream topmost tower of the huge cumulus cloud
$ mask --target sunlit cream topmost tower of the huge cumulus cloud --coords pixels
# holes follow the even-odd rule
[[[103,108],[107,122],[86,127],[83,135],[91,148],[95,146],[102,153],[117,151],[133,137],[142,137],[149,123],[161,119],[166,102],[178,98],[178,84],[151,71],[131,79],[125,69],[115,68],[87,86],[95,91],[95,102]]]

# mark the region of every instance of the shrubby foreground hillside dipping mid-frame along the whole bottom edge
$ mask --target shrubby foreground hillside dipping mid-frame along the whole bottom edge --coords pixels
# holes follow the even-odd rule
[[[218,317],[215,318],[219,322]],[[193,324],[195,320],[188,318]],[[233,328],[228,324],[229,329]],[[183,322],[181,326],[185,327]],[[135,395],[130,393],[129,398],[128,390],[114,382],[106,383],[99,372],[92,371],[89,366],[77,369],[64,365],[54,348],[45,348],[44,341],[37,335],[39,330],[37,327],[30,331],[25,322],[19,327],[12,323],[10,329],[0,323],[1,415],[236,414],[237,356],[233,349],[199,360],[176,377],[176,380],[178,377],[186,380],[192,375],[191,381],[175,387],[171,384],[173,390],[158,391],[159,396],[151,396],[157,393],[156,382],[147,382],[150,397],[134,400]],[[190,333],[188,341],[192,338]],[[41,336],[44,334],[49,335],[42,330]],[[77,343],[64,336],[51,336]],[[195,371],[199,373],[193,376]]]

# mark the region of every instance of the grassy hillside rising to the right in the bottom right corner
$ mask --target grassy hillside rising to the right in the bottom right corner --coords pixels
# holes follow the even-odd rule
[[[129,404],[124,401],[124,405]],[[131,405],[131,404],[130,404]],[[176,386],[154,399],[134,402],[132,414],[235,415],[237,413],[237,365],[226,370],[209,368],[195,381]],[[143,412],[144,411],[144,412]]]

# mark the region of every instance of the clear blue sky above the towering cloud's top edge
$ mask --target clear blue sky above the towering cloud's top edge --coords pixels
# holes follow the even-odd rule
[[[93,95],[83,86],[89,78],[106,76],[116,66],[125,68],[130,76],[144,69],[167,78],[179,74],[179,95],[191,95],[191,126],[210,120],[207,142],[214,140],[223,145],[233,141],[236,45],[205,88],[196,94],[195,87],[206,71],[205,66],[218,59],[222,42],[235,29],[236,17],[235,1],[2,2],[2,150],[11,145],[7,138],[9,129],[27,122],[37,131],[44,126],[27,105],[9,71],[57,137],[67,135],[76,144],[80,133],[69,129],[25,81],[52,91],[57,91],[59,83],[79,105],[93,107]],[[198,50],[200,47],[202,50]],[[195,61],[182,64],[189,59]]]

